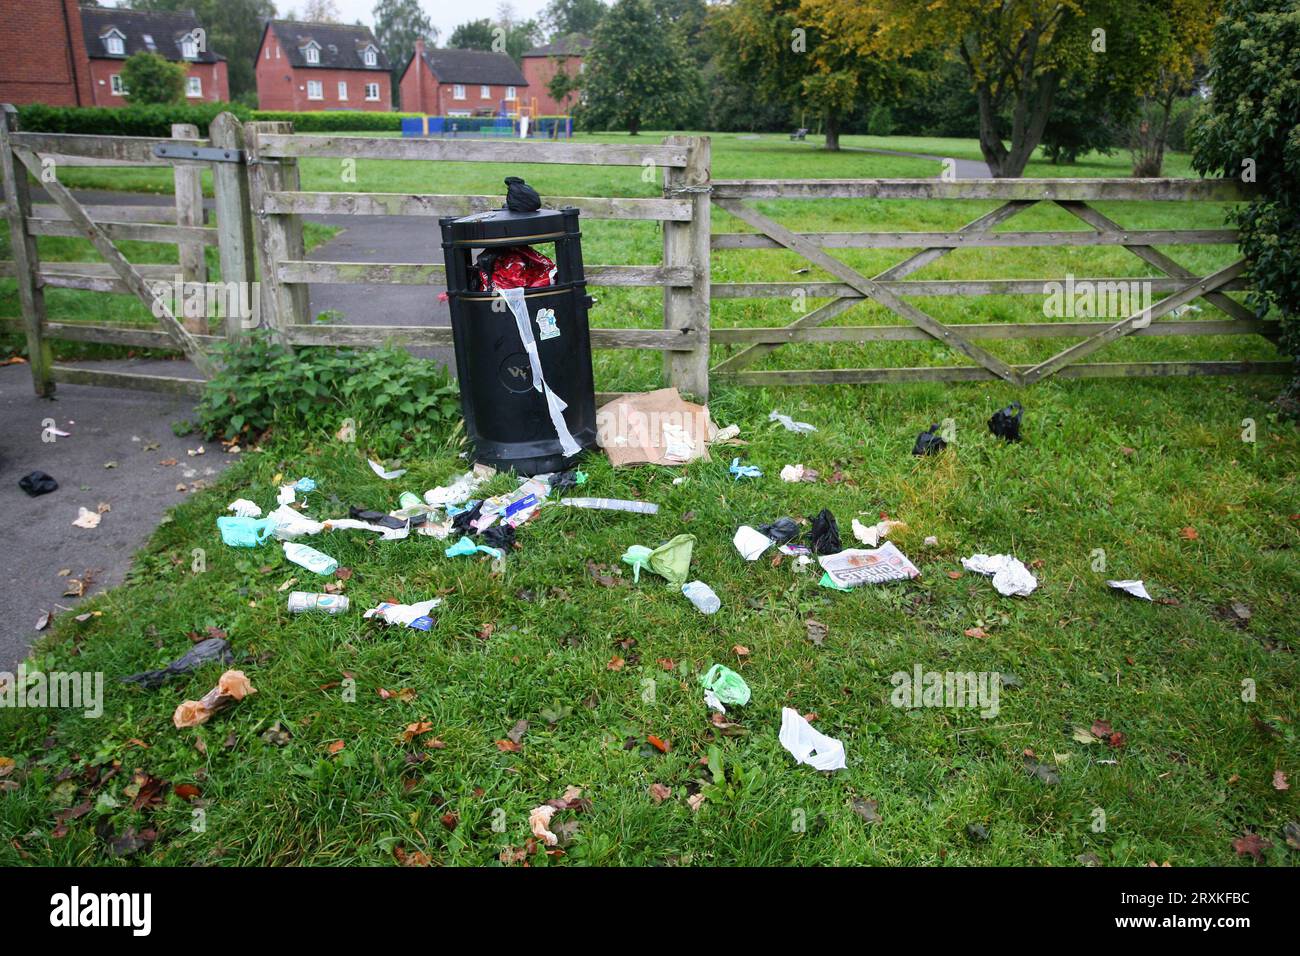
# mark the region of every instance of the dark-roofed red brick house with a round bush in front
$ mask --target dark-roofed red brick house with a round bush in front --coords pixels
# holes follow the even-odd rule
[[[126,105],[122,64],[134,53],[157,53],[183,64],[187,103],[230,99],[226,59],[208,49],[207,33],[194,13],[82,7],[81,22],[90,59],[91,105]]]

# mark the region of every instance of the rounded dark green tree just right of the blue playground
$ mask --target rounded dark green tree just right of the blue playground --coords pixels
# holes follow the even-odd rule
[[[585,103],[577,116],[586,129],[647,125],[679,127],[702,101],[699,73],[681,35],[649,0],[618,0],[592,38]]]

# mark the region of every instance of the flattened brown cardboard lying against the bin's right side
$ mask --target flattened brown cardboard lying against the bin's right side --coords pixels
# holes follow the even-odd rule
[[[601,406],[595,420],[597,441],[615,468],[708,460],[708,442],[718,434],[708,408],[673,388],[620,395]]]

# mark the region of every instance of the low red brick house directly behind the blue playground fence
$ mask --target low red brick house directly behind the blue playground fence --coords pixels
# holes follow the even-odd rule
[[[425,116],[490,116],[519,111],[532,96],[528,81],[506,53],[425,49],[415,42],[398,83],[402,109]]]

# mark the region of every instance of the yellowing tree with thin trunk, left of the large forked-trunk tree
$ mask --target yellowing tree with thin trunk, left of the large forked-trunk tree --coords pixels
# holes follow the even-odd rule
[[[710,30],[734,79],[792,109],[811,109],[824,124],[826,148],[838,150],[844,117],[909,75],[897,60],[862,55],[844,30],[850,10],[849,0],[733,0],[718,8]]]

